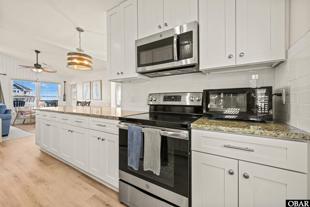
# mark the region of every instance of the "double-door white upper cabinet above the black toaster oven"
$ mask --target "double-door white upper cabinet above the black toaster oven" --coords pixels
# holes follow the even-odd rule
[[[201,70],[285,59],[285,0],[200,0],[199,20]]]

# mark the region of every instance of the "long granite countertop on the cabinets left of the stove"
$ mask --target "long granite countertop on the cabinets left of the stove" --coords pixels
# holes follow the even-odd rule
[[[113,120],[118,120],[118,118],[121,116],[129,116],[145,113],[144,111],[125,111],[117,107],[101,107],[101,106],[59,106],[59,107],[33,108],[32,110],[68,113],[74,115],[90,116],[90,117],[113,119]]]

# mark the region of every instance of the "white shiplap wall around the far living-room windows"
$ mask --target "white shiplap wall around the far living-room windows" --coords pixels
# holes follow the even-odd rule
[[[7,57],[5,55],[0,54],[0,73],[7,74],[6,76],[0,75],[0,81],[2,86],[2,91],[4,95],[5,104],[8,109],[13,108],[13,96],[12,96],[12,80],[38,80],[38,81],[46,81],[46,82],[54,82],[61,84],[61,97],[63,94],[63,81],[64,77],[58,75],[57,73],[36,73],[31,71],[30,69],[19,69],[18,65],[32,65],[30,63],[23,63],[14,58]],[[66,103],[60,100],[60,105],[65,105]],[[13,116],[14,118],[14,116]],[[12,119],[13,119],[12,118]]]

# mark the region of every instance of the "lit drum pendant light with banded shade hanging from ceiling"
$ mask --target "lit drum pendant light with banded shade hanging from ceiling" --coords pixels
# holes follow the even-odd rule
[[[84,30],[77,27],[77,31],[79,32],[79,48],[76,52],[67,53],[67,67],[75,70],[93,70],[92,56],[85,54],[81,48],[81,32]]]

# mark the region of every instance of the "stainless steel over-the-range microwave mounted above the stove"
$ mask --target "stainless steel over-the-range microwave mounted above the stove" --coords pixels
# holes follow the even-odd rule
[[[199,72],[198,23],[136,40],[136,72],[148,77]]]

